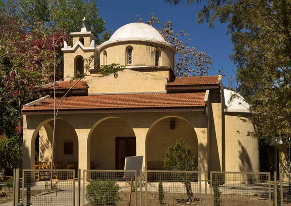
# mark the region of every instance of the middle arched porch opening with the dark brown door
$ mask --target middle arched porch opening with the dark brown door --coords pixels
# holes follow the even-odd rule
[[[135,133],[120,118],[100,122],[89,134],[87,146],[91,169],[123,170],[125,158],[136,156]]]

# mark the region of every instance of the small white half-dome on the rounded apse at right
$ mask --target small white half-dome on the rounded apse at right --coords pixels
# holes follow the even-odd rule
[[[249,112],[250,105],[245,101],[242,95],[228,89],[223,90],[223,95],[225,111]],[[232,95],[235,96],[233,97],[232,101],[230,101]]]

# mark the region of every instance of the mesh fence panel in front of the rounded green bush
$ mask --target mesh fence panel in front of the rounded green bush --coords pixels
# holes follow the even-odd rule
[[[130,170],[84,170],[83,205],[136,206],[136,177]]]

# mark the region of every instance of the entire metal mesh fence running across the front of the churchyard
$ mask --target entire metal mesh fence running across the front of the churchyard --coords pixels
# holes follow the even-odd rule
[[[291,206],[291,173],[23,170],[14,203],[24,206]],[[50,178],[52,177],[52,181]],[[205,177],[205,178],[204,178]]]

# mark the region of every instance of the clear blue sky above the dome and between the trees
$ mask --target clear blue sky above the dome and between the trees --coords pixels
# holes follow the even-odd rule
[[[226,24],[216,22],[215,28],[210,29],[207,23],[197,24],[197,13],[203,4],[194,3],[186,5],[181,3],[173,6],[165,3],[164,0],[96,0],[99,8],[99,15],[106,21],[106,29],[115,32],[119,27],[130,22],[137,22],[136,15],[146,22],[150,19],[150,13],[155,13],[159,17],[161,24],[166,20],[173,22],[175,32],[184,30],[189,33],[190,47],[209,54],[213,61],[213,70],[210,75],[216,75],[218,69],[222,69],[226,74],[223,78],[224,85],[228,85],[227,77],[233,74],[234,64],[229,59],[232,54],[233,45],[230,35],[226,35]]]

